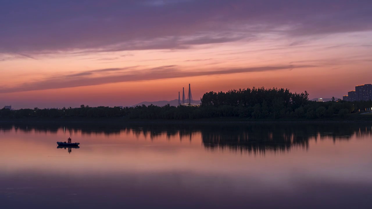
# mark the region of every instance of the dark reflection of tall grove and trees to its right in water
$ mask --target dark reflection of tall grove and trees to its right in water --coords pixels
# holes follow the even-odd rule
[[[370,126],[357,124],[301,124],[221,126],[203,129],[202,141],[206,148],[265,153],[289,151],[292,147],[309,148],[309,141],[332,139],[349,140],[352,136],[372,136]]]

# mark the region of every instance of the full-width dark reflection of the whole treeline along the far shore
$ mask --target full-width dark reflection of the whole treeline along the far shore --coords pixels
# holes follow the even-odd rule
[[[39,124],[39,125],[0,125],[2,132],[14,130],[37,133],[57,134],[63,130],[67,134],[82,135],[104,134],[106,136],[133,135],[137,138],[144,136],[156,140],[164,135],[167,139],[179,138],[180,141],[192,141],[193,136],[201,134],[202,144],[205,149],[217,149],[233,152],[248,152],[265,154],[266,152],[285,152],[293,147],[309,149],[309,141],[332,139],[349,140],[372,136],[371,124],[359,123],[262,123],[262,124],[208,124],[208,123],[150,123],[150,124]],[[70,152],[70,151],[69,151]]]

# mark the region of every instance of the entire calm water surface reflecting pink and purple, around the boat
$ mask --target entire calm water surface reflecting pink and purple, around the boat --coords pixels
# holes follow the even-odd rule
[[[372,208],[371,124],[0,124],[0,143],[2,209]]]

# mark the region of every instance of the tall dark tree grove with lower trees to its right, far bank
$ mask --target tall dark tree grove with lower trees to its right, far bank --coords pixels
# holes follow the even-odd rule
[[[288,89],[239,89],[227,92],[205,93],[201,106],[215,116],[237,116],[251,119],[279,118],[330,118],[341,117],[349,113],[370,109],[372,102],[314,102],[308,99],[308,93],[292,93]]]

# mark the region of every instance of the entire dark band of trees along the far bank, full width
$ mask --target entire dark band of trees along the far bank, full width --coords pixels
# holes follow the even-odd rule
[[[371,101],[312,102],[308,93],[292,93],[288,89],[239,89],[228,92],[209,92],[201,98],[200,106],[136,106],[89,107],[61,109],[1,109],[1,119],[22,118],[126,118],[126,119],[202,119],[239,117],[243,119],[321,119],[345,117],[350,113],[364,112]]]

